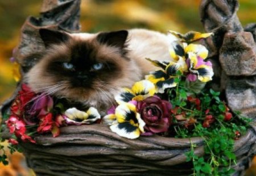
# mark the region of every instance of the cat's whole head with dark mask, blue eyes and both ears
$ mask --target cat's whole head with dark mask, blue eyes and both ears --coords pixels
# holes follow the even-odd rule
[[[101,107],[112,104],[119,88],[140,79],[126,56],[127,31],[68,35],[42,29],[40,35],[48,49],[26,76],[35,92]]]

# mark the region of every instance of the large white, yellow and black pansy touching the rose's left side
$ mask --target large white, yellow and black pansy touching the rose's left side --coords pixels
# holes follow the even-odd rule
[[[103,120],[111,122],[110,129],[125,138],[135,139],[144,132],[145,122],[132,103],[122,103],[114,114],[106,115]]]

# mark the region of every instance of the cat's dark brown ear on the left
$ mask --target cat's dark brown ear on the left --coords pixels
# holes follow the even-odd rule
[[[46,47],[51,44],[60,44],[61,42],[65,42],[70,37],[67,33],[52,31],[49,29],[39,29],[39,34]]]

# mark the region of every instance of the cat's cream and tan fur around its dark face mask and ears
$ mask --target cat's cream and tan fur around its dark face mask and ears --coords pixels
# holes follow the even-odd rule
[[[168,37],[162,33],[148,31],[146,29],[131,29],[126,41],[127,58],[122,58],[118,48],[114,46],[100,45],[95,38],[98,34],[75,33],[69,34],[72,42],[52,45],[46,55],[26,75],[26,81],[35,92],[46,92],[57,97],[65,97],[72,101],[79,101],[89,106],[105,110],[114,102],[114,96],[122,87],[131,87],[135,81],[144,78],[144,75],[156,69],[145,58],[159,61],[170,61]],[[70,88],[68,81],[59,81],[48,74],[46,67],[49,62],[59,56],[71,53],[73,42],[88,41],[97,48],[94,54],[97,58],[108,58],[115,62],[119,74],[113,75],[108,85],[101,80],[93,82],[93,89]],[[68,62],[63,60],[63,62]],[[106,73],[108,74],[108,73]],[[60,85],[62,84],[62,85]]]

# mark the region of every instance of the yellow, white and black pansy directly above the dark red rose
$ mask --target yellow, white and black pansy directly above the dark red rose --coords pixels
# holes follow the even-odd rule
[[[147,97],[153,96],[155,93],[155,86],[148,80],[136,82],[131,89],[124,88],[119,95],[115,96],[115,101],[118,104],[122,102],[129,102],[131,100],[141,101]]]

